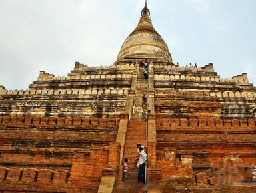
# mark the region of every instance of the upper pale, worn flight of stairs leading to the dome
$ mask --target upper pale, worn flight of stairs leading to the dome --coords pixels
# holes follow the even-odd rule
[[[142,108],[142,97],[147,95],[147,79],[143,75],[143,67],[139,68],[139,75],[137,77],[137,88],[135,92],[135,97],[133,100],[133,113],[131,120],[143,120],[145,121],[145,115],[143,114]]]

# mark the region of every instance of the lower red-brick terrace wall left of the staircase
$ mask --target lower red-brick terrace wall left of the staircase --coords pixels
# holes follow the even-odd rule
[[[119,118],[0,117],[0,192],[97,192],[117,168]]]

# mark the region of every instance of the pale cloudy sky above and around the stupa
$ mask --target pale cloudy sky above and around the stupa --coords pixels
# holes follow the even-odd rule
[[[256,85],[255,0],[148,0],[155,29],[180,65],[213,63]],[[144,0],[0,0],[0,85],[28,89],[39,71],[67,75],[79,61],[112,65]]]

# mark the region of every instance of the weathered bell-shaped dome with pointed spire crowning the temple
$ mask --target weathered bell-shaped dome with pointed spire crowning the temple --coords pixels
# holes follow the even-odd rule
[[[124,58],[157,58],[172,62],[171,54],[163,38],[155,31],[150,11],[145,5],[136,29],[125,39],[117,61]]]

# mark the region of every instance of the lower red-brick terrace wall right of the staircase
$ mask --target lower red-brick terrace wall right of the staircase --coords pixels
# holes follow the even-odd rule
[[[255,119],[157,116],[157,168],[163,184],[256,185]]]

